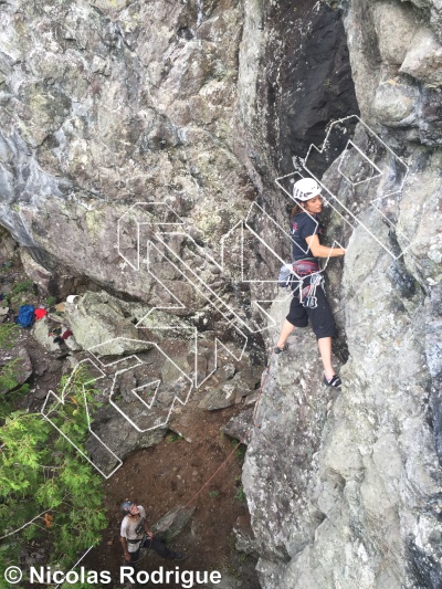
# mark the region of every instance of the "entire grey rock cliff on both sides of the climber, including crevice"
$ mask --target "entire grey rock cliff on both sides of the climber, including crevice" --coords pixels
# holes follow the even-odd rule
[[[348,245],[344,266],[333,261],[328,272],[344,387],[320,385],[314,337],[297,332],[288,353],[271,358],[243,482],[262,587],[438,588],[441,10],[435,0],[329,4],[1,2],[0,221],[54,294],[94,285],[151,308],[173,292],[182,307],[169,313],[212,329],[220,317],[189,274],[159,254],[159,286],[133,263],[141,228],[143,248],[170,245],[212,293],[255,319],[260,287],[220,278],[207,255],[218,259],[253,201],[285,223],[290,202],[273,179],[322,143],[330,120],[360,112],[408,170],[400,177],[382,147],[385,180],[348,182],[330,162],[349,135],[320,168],[358,221],[350,229],[343,209],[328,214],[329,239]],[[354,132],[371,154],[370,133],[361,124]],[[357,175],[367,161],[347,168]],[[166,217],[133,209],[118,233],[138,202],[161,204]],[[181,234],[160,243],[152,227],[177,219]],[[254,227],[288,255],[265,218]],[[254,242],[243,265],[274,273],[269,252]],[[287,306],[286,297],[273,304],[266,345]]]

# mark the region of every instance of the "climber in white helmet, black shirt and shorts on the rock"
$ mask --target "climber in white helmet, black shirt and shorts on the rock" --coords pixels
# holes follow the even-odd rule
[[[324,383],[340,387],[340,378],[332,366],[332,337],[336,326],[325,295],[318,257],[336,257],[344,255],[346,250],[320,244],[323,227],[318,214],[323,208],[323,198],[319,185],[312,178],[303,178],[295,182],[293,197],[296,202],[292,210],[291,230],[293,270],[299,276],[299,282],[296,283],[298,287],[293,293],[290,312],[274,353],[286,350],[286,340],[295,327],[305,327],[311,319],[324,365]]]

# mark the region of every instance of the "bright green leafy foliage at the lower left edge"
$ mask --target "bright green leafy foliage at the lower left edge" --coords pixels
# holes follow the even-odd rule
[[[64,390],[64,404],[51,407],[51,419],[81,449],[88,434],[86,400],[92,411],[99,404],[87,380],[84,369],[63,379],[59,396]],[[36,538],[51,547],[49,564],[69,570],[80,551],[99,541],[106,525],[101,476],[40,413],[11,412],[0,430],[0,536],[38,516],[3,540],[9,549],[0,551],[0,577]]]

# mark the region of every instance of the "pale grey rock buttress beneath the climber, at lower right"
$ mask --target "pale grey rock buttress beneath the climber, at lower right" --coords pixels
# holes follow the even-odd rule
[[[272,359],[243,475],[263,587],[439,587],[434,296],[356,231],[335,305],[349,350],[341,391],[322,385],[309,330]]]

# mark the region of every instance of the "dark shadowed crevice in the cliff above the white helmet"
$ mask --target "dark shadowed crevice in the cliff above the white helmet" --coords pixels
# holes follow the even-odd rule
[[[330,120],[359,109],[340,12],[314,0],[285,0],[269,8],[266,28],[266,138],[274,166],[287,173],[293,156],[322,144]]]

